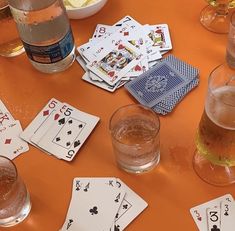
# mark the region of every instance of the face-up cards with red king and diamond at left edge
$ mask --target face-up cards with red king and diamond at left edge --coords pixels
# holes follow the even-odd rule
[[[19,135],[22,128],[19,120],[14,120],[11,113],[0,100],[0,155],[14,159],[29,150],[28,144]]]

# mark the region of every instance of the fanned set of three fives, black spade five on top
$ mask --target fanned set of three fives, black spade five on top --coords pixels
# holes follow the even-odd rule
[[[51,99],[20,137],[59,159],[71,161],[99,118]]]

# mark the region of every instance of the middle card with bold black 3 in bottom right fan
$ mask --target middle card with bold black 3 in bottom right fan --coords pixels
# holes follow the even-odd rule
[[[207,223],[209,231],[220,231],[220,206],[208,208]]]

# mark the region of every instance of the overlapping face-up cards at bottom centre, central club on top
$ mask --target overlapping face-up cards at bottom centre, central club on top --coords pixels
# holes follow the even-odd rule
[[[147,206],[118,178],[74,178],[61,231],[121,231]]]

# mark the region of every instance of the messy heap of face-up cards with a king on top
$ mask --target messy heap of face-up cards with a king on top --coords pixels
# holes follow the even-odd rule
[[[141,25],[126,16],[113,26],[98,24],[89,42],[77,48],[83,80],[113,92],[147,71],[172,49],[167,24]]]

